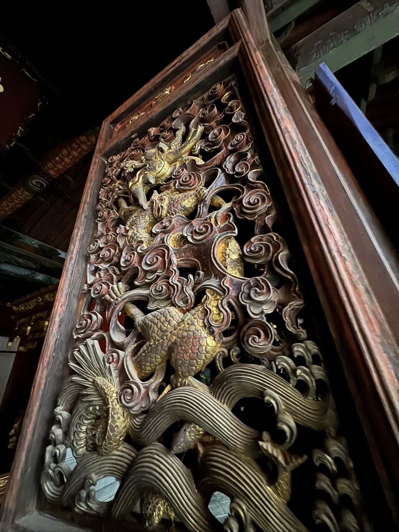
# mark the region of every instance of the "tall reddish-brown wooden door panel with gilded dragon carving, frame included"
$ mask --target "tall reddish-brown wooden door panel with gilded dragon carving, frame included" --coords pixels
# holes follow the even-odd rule
[[[388,250],[264,37],[232,12],[104,121],[3,530],[395,514]]]

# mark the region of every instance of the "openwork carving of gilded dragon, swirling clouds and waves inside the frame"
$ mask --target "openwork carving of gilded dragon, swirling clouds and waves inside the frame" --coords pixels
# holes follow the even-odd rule
[[[359,527],[352,463],[234,79],[110,157],[97,211],[46,496],[114,519],[139,507],[146,527],[169,518],[196,532],[218,528],[207,502],[221,491],[225,530]],[[312,460],[327,468],[312,473]],[[107,475],[122,481],[104,503],[95,485]],[[303,475],[331,504],[309,494],[290,510]]]

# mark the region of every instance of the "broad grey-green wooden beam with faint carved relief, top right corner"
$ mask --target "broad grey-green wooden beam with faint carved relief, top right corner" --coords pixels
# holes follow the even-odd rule
[[[362,0],[287,51],[303,86],[320,63],[332,72],[399,35],[399,1]]]

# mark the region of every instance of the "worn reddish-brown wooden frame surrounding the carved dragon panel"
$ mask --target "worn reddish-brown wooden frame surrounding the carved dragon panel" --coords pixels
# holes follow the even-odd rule
[[[242,11],[235,10],[103,122],[16,451],[2,530],[78,529],[41,510],[38,494],[48,429],[81,308],[106,157],[120,151],[134,131],[146,129],[148,121],[212,85],[233,62],[242,69],[254,101],[381,485],[398,519],[396,260],[300,82],[268,34],[260,37],[266,40],[255,43]],[[221,43],[225,51],[159,105],[126,120]]]

